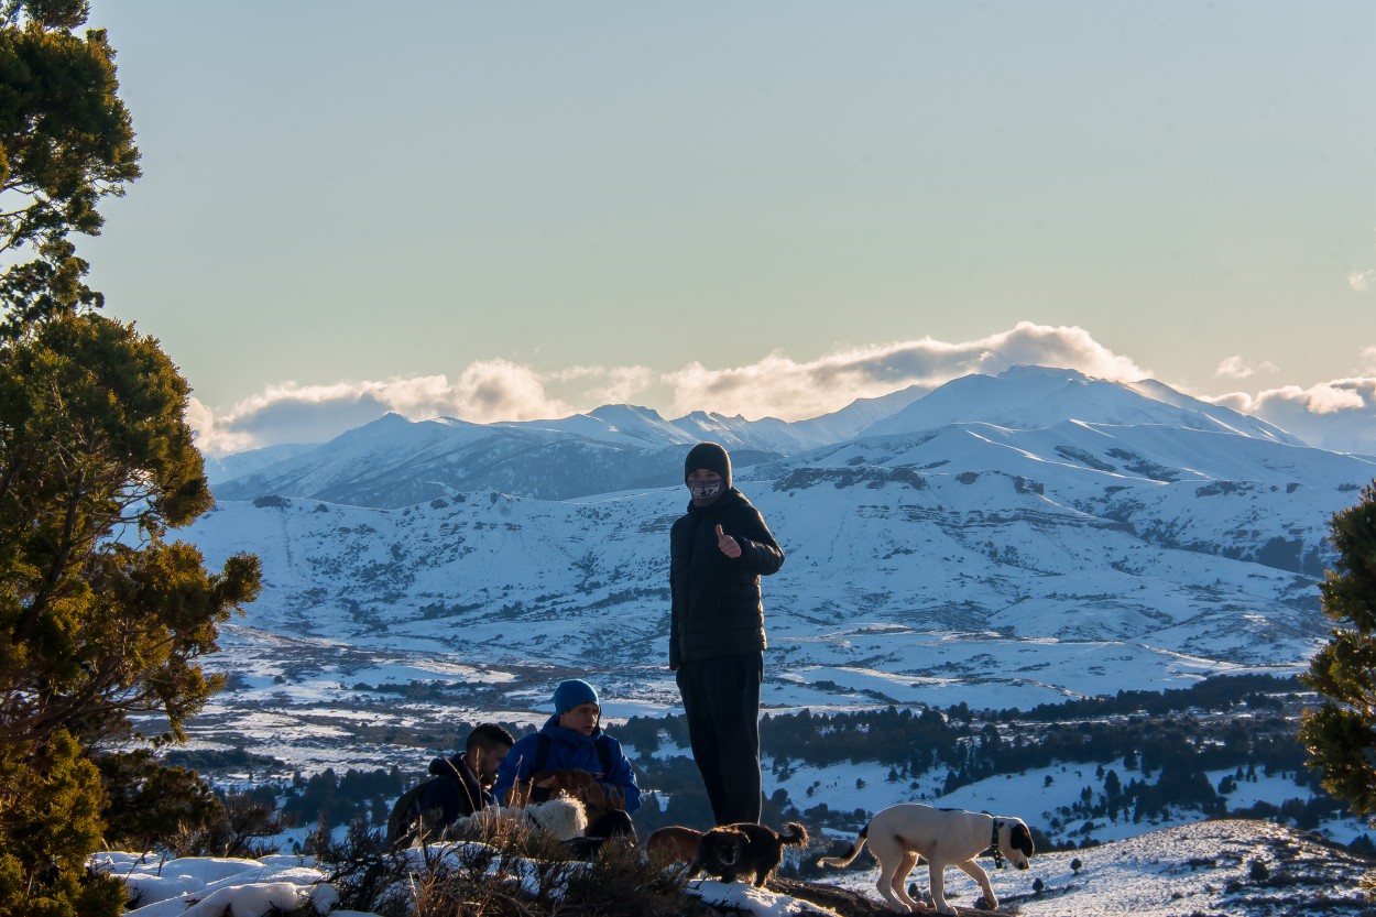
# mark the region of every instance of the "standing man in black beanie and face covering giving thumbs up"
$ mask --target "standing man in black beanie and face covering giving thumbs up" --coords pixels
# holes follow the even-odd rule
[[[760,577],[783,551],[760,511],[731,486],[731,456],[700,442],[684,460],[692,494],[669,533],[669,668],[688,717],[694,761],[718,825],[760,821],[760,686],[765,611]]]

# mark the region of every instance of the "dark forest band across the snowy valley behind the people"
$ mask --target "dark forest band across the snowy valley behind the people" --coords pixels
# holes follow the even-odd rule
[[[854,713],[766,715],[761,719],[761,744],[765,764],[776,778],[787,778],[798,766],[878,763],[889,767],[889,782],[908,789],[916,789],[918,777],[936,771],[943,777],[943,793],[1003,774],[1077,764],[1087,781],[1079,799],[1062,805],[1049,823],[1033,825],[1033,833],[1043,848],[1088,847],[1095,843],[1094,819],[1141,822],[1168,808],[1203,816],[1273,819],[1302,829],[1342,815],[1342,803],[1322,793],[1317,774],[1306,768],[1304,749],[1296,739],[1300,710],[1314,702],[1314,695],[1295,679],[1216,676],[1182,690],[1119,691],[1115,697],[1043,704],[1029,710],[973,710],[958,704],[945,709],[888,706]],[[530,731],[505,726],[516,735]],[[468,728],[460,724],[458,734]],[[666,746],[688,745],[682,716],[630,717],[612,732],[636,753],[637,779],[647,790],[645,804],[634,818],[641,836],[671,823],[710,825],[692,759],[655,755]],[[270,763],[244,752],[172,752],[168,759],[206,772]],[[1215,783],[1205,771],[1232,774]],[[1229,794],[1259,774],[1291,777],[1296,796],[1276,804],[1232,807]],[[297,825],[323,819],[327,825],[362,821],[378,828],[387,822],[391,800],[418,779],[424,775],[402,774],[396,767],[351,768],[343,775],[326,770],[310,777],[297,774],[288,783],[259,786],[253,793],[275,797]],[[662,805],[662,799],[671,800],[671,805]],[[866,816],[809,797],[790,799],[777,789],[765,800],[762,821],[853,830]],[[1073,834],[1068,830],[1072,825]],[[1358,845],[1368,845],[1365,836]]]

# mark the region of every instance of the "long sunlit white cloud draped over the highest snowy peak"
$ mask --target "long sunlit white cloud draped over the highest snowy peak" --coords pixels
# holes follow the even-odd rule
[[[673,388],[677,414],[714,410],[801,420],[838,410],[856,398],[875,398],[908,386],[934,387],[1018,363],[1079,369],[1098,379],[1130,381],[1150,375],[1095,341],[1083,328],[1020,322],[1013,330],[973,341],[923,337],[837,351],[810,362],[775,352],[729,369],[709,369],[695,362],[663,379]]]

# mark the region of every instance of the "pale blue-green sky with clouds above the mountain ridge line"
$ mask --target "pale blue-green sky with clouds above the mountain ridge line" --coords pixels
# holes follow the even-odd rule
[[[94,0],[212,454],[1038,362],[1376,450],[1376,6]]]

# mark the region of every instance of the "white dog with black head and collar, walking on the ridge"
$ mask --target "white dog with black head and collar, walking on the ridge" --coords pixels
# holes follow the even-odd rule
[[[866,840],[879,861],[879,894],[900,914],[918,910],[918,902],[908,898],[905,889],[908,873],[918,865],[918,856],[927,861],[932,903],[937,911],[954,914],[955,907],[945,900],[943,874],[947,866],[955,866],[980,883],[985,905],[993,910],[999,906],[999,899],[989,887],[989,874],[974,858],[992,847],[993,862],[999,866],[1007,858],[1018,869],[1026,869],[1028,856],[1032,855],[1032,832],[1021,818],[996,818],[985,812],[904,803],[875,814],[860,829],[860,836],[845,856],[824,856],[817,862],[823,866],[849,866]]]

